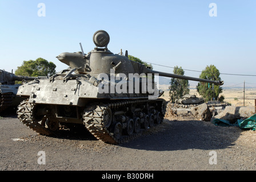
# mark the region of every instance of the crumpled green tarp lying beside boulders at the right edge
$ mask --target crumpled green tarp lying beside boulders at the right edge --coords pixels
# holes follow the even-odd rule
[[[251,116],[250,118],[247,118],[245,120],[238,119],[235,123],[230,123],[229,121],[225,119],[214,119],[213,120],[214,125],[216,126],[237,126],[241,129],[251,129],[255,130],[256,128],[256,114]]]

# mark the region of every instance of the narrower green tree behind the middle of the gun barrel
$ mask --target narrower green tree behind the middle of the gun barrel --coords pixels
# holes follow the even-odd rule
[[[182,67],[174,67],[173,73],[176,75],[184,75]],[[174,102],[175,100],[182,98],[185,94],[189,94],[189,80],[171,78],[169,86],[169,95],[170,101]]]

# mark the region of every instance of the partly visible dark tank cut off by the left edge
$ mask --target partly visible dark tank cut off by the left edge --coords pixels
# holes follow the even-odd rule
[[[15,84],[15,81],[29,81],[35,78],[37,77],[16,76],[0,69],[0,113],[8,107],[17,107],[24,100],[23,97],[16,97],[21,84]]]

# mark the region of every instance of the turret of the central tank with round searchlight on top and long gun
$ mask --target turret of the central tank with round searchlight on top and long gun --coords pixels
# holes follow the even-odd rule
[[[102,42],[100,42],[100,40],[102,40]],[[129,60],[127,51],[126,56],[115,55],[114,53],[110,52],[107,49],[109,40],[110,38],[107,32],[103,30],[97,31],[93,36],[94,44],[97,47],[95,47],[93,51],[89,52],[87,55],[84,55],[83,52],[63,52],[57,56],[57,59],[62,63],[69,65],[69,67],[72,69],[77,68],[78,73],[90,74],[91,76],[95,77],[101,73],[110,74],[111,69],[114,69],[115,74],[124,73],[125,75],[129,75],[129,73],[138,73],[141,75],[141,73],[145,73],[147,75],[151,73],[164,77],[181,78],[200,82],[210,82],[215,85],[223,85],[223,81],[205,80],[202,78],[175,75],[171,73],[151,70],[141,63]]]

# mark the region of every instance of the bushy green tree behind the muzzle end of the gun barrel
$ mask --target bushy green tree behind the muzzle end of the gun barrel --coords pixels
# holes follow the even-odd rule
[[[199,78],[221,81],[219,70],[214,66],[207,66],[199,76]],[[217,100],[219,94],[222,93],[222,88],[219,85],[214,85],[206,82],[199,82],[197,92],[205,99],[205,101]]]

